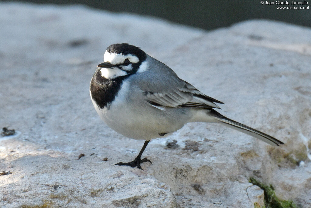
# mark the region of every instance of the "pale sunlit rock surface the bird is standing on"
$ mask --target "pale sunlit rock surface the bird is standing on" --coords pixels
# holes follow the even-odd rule
[[[0,127],[17,131],[0,138],[0,171],[12,172],[0,176],[0,207],[262,205],[249,177],[311,206],[310,28],[250,20],[206,32],[82,6],[3,2],[0,28]],[[89,82],[106,47],[123,42],[225,102],[220,113],[286,144],[191,123],[150,142],[144,171],[113,166],[134,159],[143,141],[100,120]],[[167,148],[168,139],[179,146]]]

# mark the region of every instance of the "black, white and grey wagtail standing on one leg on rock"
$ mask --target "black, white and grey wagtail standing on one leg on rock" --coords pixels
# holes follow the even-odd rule
[[[128,165],[142,169],[152,162],[142,154],[151,139],[165,137],[188,122],[219,123],[258,138],[273,146],[284,144],[272,136],[231,120],[215,109],[224,104],[180,79],[164,63],[139,47],[116,43],[107,47],[104,62],[91,79],[90,95],[100,118],[125,137],[145,140]]]

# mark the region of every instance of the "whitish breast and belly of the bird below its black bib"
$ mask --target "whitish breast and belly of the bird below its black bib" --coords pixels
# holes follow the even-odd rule
[[[142,95],[133,94],[128,82],[123,82],[118,96],[100,109],[92,99],[100,118],[116,132],[133,139],[151,140],[162,133],[171,133],[191,121],[195,114],[190,109],[166,108],[160,110],[149,104]],[[139,102],[138,102],[139,101]]]

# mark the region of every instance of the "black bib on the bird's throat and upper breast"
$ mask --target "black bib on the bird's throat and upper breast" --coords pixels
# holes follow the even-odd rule
[[[100,108],[114,101],[118,94],[122,82],[130,75],[117,77],[115,79],[106,79],[101,76],[100,69],[97,69],[92,77],[90,84],[91,97]]]

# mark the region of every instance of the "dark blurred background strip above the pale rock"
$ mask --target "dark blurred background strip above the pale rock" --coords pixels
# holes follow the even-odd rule
[[[270,0],[272,1],[272,0]],[[288,0],[290,3],[291,0]],[[27,0],[24,2],[53,4],[83,4],[89,7],[112,12],[129,12],[141,15],[156,16],[183,25],[202,29],[216,29],[232,25],[248,19],[270,19],[311,27],[311,10],[309,9],[277,9],[278,6],[301,5],[267,5],[266,0]],[[276,1],[274,1],[276,2]],[[281,2],[285,2],[281,1]],[[299,1],[301,3],[306,1]]]

